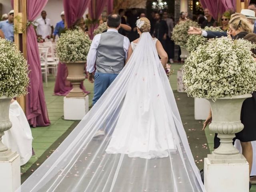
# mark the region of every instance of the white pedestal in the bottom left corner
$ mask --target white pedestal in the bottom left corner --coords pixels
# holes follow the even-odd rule
[[[0,191],[16,191],[20,187],[20,156],[16,154],[8,161],[0,161],[0,170]]]

